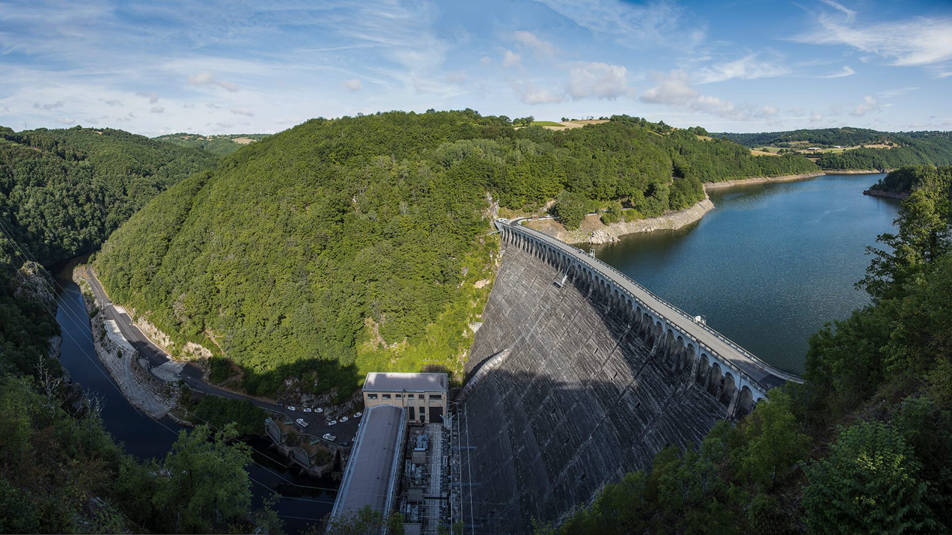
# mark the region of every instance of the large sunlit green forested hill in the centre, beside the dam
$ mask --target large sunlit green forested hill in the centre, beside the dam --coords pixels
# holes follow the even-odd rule
[[[815,170],[644,120],[513,129],[472,110],[314,119],[170,188],[96,259],[110,295],[182,347],[347,395],[367,370],[460,369],[489,291],[489,214],[571,194],[645,215],[703,198],[702,181]]]

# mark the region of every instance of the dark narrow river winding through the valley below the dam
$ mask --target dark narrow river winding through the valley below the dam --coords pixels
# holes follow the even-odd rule
[[[116,441],[124,443],[126,450],[140,460],[161,459],[184,427],[168,418],[152,420],[129,405],[96,357],[89,317],[79,287],[71,280],[72,268],[85,263],[86,258],[77,257],[51,269],[63,288],[56,300],[59,305],[56,320],[63,333],[60,362],[73,381],[100,400],[103,423]],[[253,448],[254,463],[248,466],[248,475],[255,507],[277,492],[281,498],[275,509],[289,533],[304,531],[308,525],[318,524],[327,516],[334,503],[337,483],[299,476],[297,467],[288,467],[288,460],[270,448],[268,439],[255,438],[246,442]]]

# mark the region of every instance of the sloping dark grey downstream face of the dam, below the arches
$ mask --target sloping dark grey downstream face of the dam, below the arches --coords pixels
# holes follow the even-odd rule
[[[726,406],[691,367],[588,288],[506,248],[459,400],[459,506],[481,533],[557,521],[664,446],[700,442]],[[502,351],[506,351],[501,354]]]

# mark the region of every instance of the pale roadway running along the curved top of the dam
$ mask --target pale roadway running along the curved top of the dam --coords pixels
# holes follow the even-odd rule
[[[592,269],[597,270],[603,276],[611,279],[611,281],[617,284],[619,287],[624,288],[625,292],[627,292],[629,296],[635,298],[648,309],[653,310],[658,315],[664,317],[664,319],[666,319],[669,324],[672,324],[674,327],[677,327],[678,330],[696,340],[702,347],[707,347],[707,349],[714,355],[720,356],[722,359],[733,365],[733,367],[743,371],[744,374],[746,374],[751,380],[764,386],[764,389],[769,389],[774,386],[782,386],[787,381],[803,384],[803,378],[792,373],[787,373],[775,367],[771,367],[770,365],[764,363],[764,361],[757,358],[743,347],[731,342],[720,332],[714,330],[711,327],[707,327],[707,325],[702,322],[695,320],[695,316],[691,316],[687,312],[684,312],[684,310],[681,308],[675,307],[674,305],[664,301],[664,299],[655,295],[651,290],[628,278],[618,269],[612,268],[594,256],[589,256],[587,253],[585,253],[585,251],[579,248],[574,248],[561,240],[557,240],[556,238],[545,234],[544,232],[540,232],[539,230],[535,230],[533,228],[526,228],[524,225],[522,225],[523,221],[526,221],[526,218],[519,218],[511,221],[499,219],[496,221],[496,226],[497,228],[500,228],[501,231],[503,228],[509,228],[513,231],[525,233],[526,235],[530,235],[535,239],[542,240],[550,247],[558,248],[563,253],[569,255],[569,257],[574,261],[584,263]]]

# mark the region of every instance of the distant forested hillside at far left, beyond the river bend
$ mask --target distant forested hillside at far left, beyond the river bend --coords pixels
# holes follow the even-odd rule
[[[157,193],[216,161],[123,130],[0,127],[0,224],[49,265],[98,248]]]

